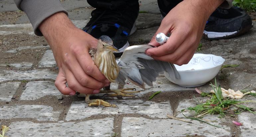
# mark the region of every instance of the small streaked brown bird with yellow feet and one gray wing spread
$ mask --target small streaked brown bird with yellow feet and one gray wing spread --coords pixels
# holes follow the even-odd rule
[[[159,74],[164,74],[169,80],[176,81],[180,79],[180,75],[175,66],[169,62],[154,60],[152,57],[145,54],[147,49],[153,48],[152,45],[134,45],[126,48],[123,55],[116,59],[113,51],[118,51],[113,46],[113,41],[106,35],[99,38],[97,48],[91,48],[89,54],[91,55],[94,63],[99,68],[101,73],[111,82],[119,82],[125,84],[126,79],[136,86],[145,90],[145,84],[153,86],[154,81]],[[110,87],[110,86],[109,86]],[[109,88],[108,87],[108,88]],[[104,89],[104,88],[103,88]],[[126,89],[106,89],[101,90],[100,93],[114,93],[109,96],[131,96],[134,95],[126,93],[136,93],[140,91],[125,91],[133,90],[135,88]],[[89,106],[103,105],[105,107],[116,107],[101,99],[89,99],[90,95],[85,94],[85,102]]]

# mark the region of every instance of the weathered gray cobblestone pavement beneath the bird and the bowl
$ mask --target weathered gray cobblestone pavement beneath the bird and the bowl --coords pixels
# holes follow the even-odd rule
[[[73,23],[82,28],[93,10],[86,0],[67,0],[62,4],[69,12]],[[148,43],[161,23],[156,0],[140,0],[137,31],[130,37],[133,44]],[[254,20],[254,24],[256,21]],[[256,29],[233,39],[201,40],[200,53],[222,56],[224,64],[239,64],[236,68],[224,68],[217,82],[224,88],[235,90],[256,87]],[[255,137],[256,117],[242,113],[235,118],[217,116],[206,119],[217,120],[217,128],[192,121],[186,123],[167,118],[167,114],[195,106],[205,98],[199,97],[194,88],[177,86],[164,77],[159,77],[153,87],[136,93],[136,97],[102,98],[116,104],[118,108],[86,107],[84,98],[62,95],[54,86],[58,74],[53,52],[43,37],[35,36],[26,15],[18,11],[9,0],[0,1],[0,124],[11,129],[8,137]],[[213,82],[213,81],[211,81]],[[198,87],[202,91],[211,89],[207,83]],[[111,88],[123,86],[112,84]],[[135,87],[127,83],[124,87]],[[140,90],[140,88],[138,88]],[[148,97],[162,91],[152,100]],[[256,100],[247,96],[244,100]],[[249,103],[256,108],[256,104]],[[188,114],[189,115],[189,114]],[[177,117],[182,117],[178,114]],[[232,120],[243,122],[235,126]]]

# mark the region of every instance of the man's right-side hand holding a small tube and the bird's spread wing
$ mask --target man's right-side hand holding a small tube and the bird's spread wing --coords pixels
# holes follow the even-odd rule
[[[184,0],[173,8],[162,20],[150,44],[159,46],[155,37],[158,33],[171,33],[167,42],[146,51],[157,60],[177,65],[187,64],[192,58],[203,34],[204,26],[211,13],[224,0]]]

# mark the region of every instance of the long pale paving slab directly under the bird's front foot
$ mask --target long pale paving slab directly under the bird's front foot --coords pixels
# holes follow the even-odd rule
[[[155,103],[152,101],[143,100],[115,100],[108,101],[110,104],[115,104],[118,108],[102,107],[86,107],[84,101],[72,102],[67,113],[66,120],[77,120],[88,118],[92,115],[102,114],[145,114],[152,118],[166,118],[166,115],[171,113],[170,102]]]

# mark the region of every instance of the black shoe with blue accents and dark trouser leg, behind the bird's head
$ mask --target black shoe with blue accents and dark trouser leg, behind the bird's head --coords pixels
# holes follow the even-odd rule
[[[139,14],[138,0],[87,0],[96,9],[91,12],[90,21],[83,28],[95,38],[107,35],[113,40],[113,45],[119,49],[115,56],[122,55],[129,47],[128,36],[136,30],[135,20]]]

